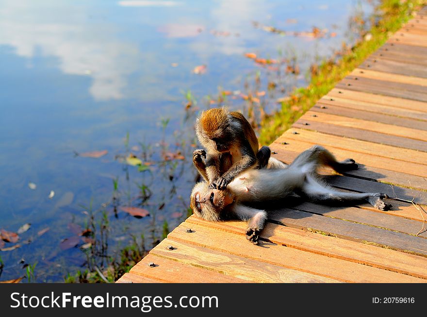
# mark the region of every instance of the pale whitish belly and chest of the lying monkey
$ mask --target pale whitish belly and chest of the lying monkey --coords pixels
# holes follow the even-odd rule
[[[239,201],[263,201],[285,198],[302,188],[306,175],[291,168],[249,170],[239,174],[228,189]]]

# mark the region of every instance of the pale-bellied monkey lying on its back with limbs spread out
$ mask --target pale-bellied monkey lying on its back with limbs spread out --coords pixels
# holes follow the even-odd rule
[[[194,151],[194,162],[198,172],[203,171],[197,164],[201,161],[203,150]],[[290,165],[270,158],[263,169],[250,169],[239,174],[231,181],[226,190],[208,188],[206,182],[197,183],[190,196],[190,206],[196,216],[210,221],[224,219],[241,219],[248,221],[246,238],[258,243],[264,222],[267,219],[265,210],[253,208],[267,202],[285,201],[286,198],[305,197],[313,203],[348,203],[356,204],[368,201],[379,210],[389,210],[388,198],[383,193],[350,193],[335,190],[317,174],[317,168],[326,165],[342,173],[355,170],[358,165],[353,159],[339,162],[324,147],[314,145],[302,152]]]

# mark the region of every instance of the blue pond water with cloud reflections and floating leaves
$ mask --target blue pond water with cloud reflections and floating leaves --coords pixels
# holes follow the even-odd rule
[[[257,89],[273,111],[276,98],[307,84],[312,63],[355,41],[354,16],[372,10],[354,0],[0,0],[0,228],[31,223],[20,248],[0,252],[0,280],[25,275],[25,264],[37,263],[37,282],[84,269],[85,241],[65,250],[61,241],[76,236],[70,223],[85,228],[90,215],[98,228],[106,214],[107,254],[131,235],[144,234],[149,249],[165,221],[172,230],[187,215],[197,176],[192,126],[207,96],[225,90],[225,103],[247,113],[242,95]],[[325,36],[282,36],[263,26],[317,27]],[[245,53],[295,58],[299,72],[279,74]],[[193,72],[199,65],[204,74]],[[271,81],[276,89],[263,95]],[[75,155],[100,150],[108,153]],[[126,164],[131,153],[153,163],[149,171]],[[118,206],[150,216],[136,219]]]

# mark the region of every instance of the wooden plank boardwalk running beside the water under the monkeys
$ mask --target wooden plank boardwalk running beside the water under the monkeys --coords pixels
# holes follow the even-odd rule
[[[290,163],[313,144],[359,163],[325,170],[334,186],[397,197],[392,210],[284,207],[258,246],[245,222],[191,216],[118,282],[427,282],[427,208],[408,202],[427,205],[427,8],[270,147]]]

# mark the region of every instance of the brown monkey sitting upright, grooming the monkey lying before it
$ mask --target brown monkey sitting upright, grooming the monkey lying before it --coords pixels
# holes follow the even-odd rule
[[[197,118],[195,128],[207,153],[195,151],[198,159],[193,162],[209,188],[224,190],[237,174],[267,165],[270,148],[258,150],[258,139],[243,114],[226,108],[209,109]]]

